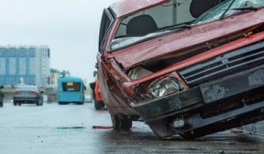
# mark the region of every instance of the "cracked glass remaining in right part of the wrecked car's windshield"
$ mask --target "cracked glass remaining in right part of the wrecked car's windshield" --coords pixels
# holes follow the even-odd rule
[[[192,24],[195,25],[195,24],[215,21],[219,19],[229,7],[230,9],[225,13],[224,17],[230,17],[233,14],[243,11],[243,10],[232,10],[235,8],[262,8],[263,6],[264,6],[264,0],[235,0],[234,2],[233,0],[227,0],[215,6],[214,8],[208,10],[208,12],[202,14]]]

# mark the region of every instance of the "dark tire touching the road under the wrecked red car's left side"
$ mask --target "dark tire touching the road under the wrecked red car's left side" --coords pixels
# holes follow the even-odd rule
[[[120,131],[120,132],[130,131],[133,125],[132,120],[130,120],[126,116],[111,114],[111,120],[112,120],[113,129]]]

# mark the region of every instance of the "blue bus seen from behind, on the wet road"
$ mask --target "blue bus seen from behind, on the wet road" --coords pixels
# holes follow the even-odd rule
[[[85,85],[81,78],[61,77],[58,78],[58,104],[84,104]]]

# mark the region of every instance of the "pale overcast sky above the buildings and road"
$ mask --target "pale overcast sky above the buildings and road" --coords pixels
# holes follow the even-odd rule
[[[94,80],[102,10],[117,0],[0,0],[0,45],[48,45],[51,67]]]

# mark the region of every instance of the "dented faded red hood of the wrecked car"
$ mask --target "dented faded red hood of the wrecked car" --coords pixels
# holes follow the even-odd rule
[[[190,29],[167,34],[112,52],[111,57],[115,58],[115,61],[127,70],[151,58],[182,51],[189,47],[245,30],[253,25],[264,23],[262,14],[264,14],[264,9],[257,12],[238,14],[222,21],[196,25]]]

